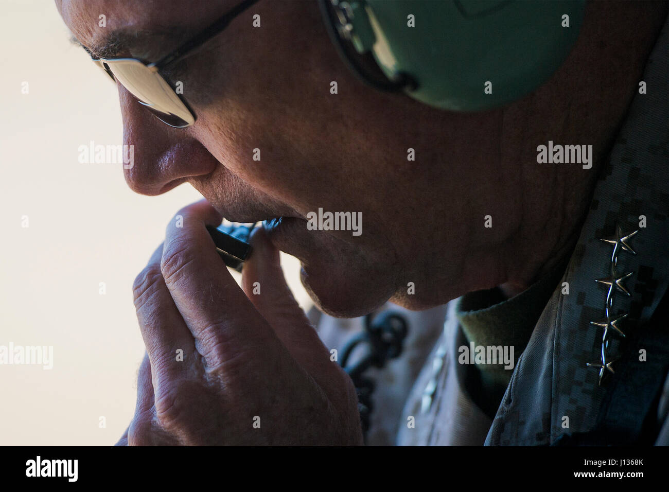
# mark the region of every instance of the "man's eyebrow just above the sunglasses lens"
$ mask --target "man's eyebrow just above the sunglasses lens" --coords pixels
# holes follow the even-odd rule
[[[70,42],[92,56],[92,58],[117,58],[131,54],[140,60],[159,60],[169,53],[166,46],[173,50],[186,42],[193,35],[183,26],[167,26],[159,29],[115,29],[106,34],[94,46],[86,46],[71,33]]]

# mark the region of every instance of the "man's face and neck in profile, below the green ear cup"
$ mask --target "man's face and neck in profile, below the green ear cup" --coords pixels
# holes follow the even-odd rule
[[[56,3],[95,56],[151,62],[239,1]],[[503,108],[456,113],[355,80],[316,2],[261,0],[163,74],[183,82],[191,127],[168,127],[118,86],[134,145],[126,181],[147,195],[187,181],[235,222],[283,217],[272,242],[301,260],[304,286],[334,315],[388,299],[425,309],[504,283],[520,292],[578,237],[666,16],[666,3],[599,4],[587,3],[575,47],[543,86]],[[595,165],[537,165],[548,141],[592,143]],[[361,213],[362,234],[308,230],[319,209]]]

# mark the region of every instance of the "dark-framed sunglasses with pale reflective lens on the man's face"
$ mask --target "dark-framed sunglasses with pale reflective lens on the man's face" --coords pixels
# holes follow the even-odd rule
[[[192,54],[195,48],[223,31],[232,19],[257,1],[245,0],[233,7],[223,17],[155,63],[145,63],[136,58],[93,58],[93,61],[112,80],[120,82],[140,104],[147,106],[159,120],[174,128],[189,127],[195,122],[195,112],[160,71]]]

